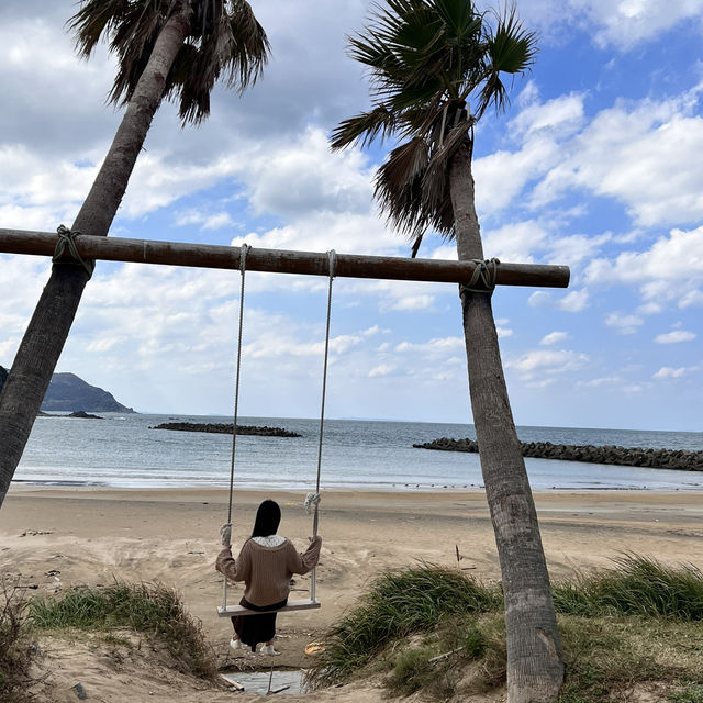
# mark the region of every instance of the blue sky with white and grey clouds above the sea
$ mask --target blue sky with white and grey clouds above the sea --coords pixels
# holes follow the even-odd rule
[[[369,105],[347,37],[367,0],[252,0],[272,56],[209,120],[157,113],[111,236],[409,256],[372,200],[392,144],[332,153]],[[0,227],[70,226],[121,119],[114,60],[77,58],[72,0],[0,3]],[[486,7],[486,5],[484,5]],[[568,289],[493,295],[517,425],[703,431],[703,0],[522,0],[532,71],[476,133],[487,257]],[[420,256],[456,258],[426,236]],[[0,365],[48,277],[0,254]],[[239,414],[314,417],[324,278],[248,272]],[[140,412],[231,414],[238,271],[99,263],[59,359]],[[454,284],[334,281],[326,415],[470,423]]]

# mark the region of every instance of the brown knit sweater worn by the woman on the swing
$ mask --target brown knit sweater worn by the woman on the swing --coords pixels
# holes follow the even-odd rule
[[[288,539],[278,547],[263,547],[247,539],[236,559],[232,548],[224,547],[215,569],[231,581],[244,581],[244,598],[253,605],[274,605],[288,598],[293,573],[308,573],[317,563],[321,547],[320,535],[303,554]]]

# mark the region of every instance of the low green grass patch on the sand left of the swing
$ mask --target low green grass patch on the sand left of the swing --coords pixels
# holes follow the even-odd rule
[[[59,598],[29,601],[29,617],[38,629],[77,628],[109,632],[129,628],[161,643],[183,673],[213,678],[216,661],[202,627],[176,591],[159,583],[78,587]]]

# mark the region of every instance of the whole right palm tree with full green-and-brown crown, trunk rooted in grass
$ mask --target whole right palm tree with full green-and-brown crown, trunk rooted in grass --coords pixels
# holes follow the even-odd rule
[[[397,138],[376,177],[389,221],[414,239],[428,228],[483,260],[475,207],[473,127],[507,102],[503,75],[529,69],[535,35],[510,10],[478,12],[471,0],[387,0],[349,38],[368,68],[371,109],[344,120],[332,147]],[[489,267],[490,268],[490,267]],[[511,703],[554,701],[563,680],[539,525],[515,432],[490,291],[460,287],[473,422],[505,593]]]

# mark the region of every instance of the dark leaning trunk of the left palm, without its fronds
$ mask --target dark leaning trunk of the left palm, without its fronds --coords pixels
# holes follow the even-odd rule
[[[164,25],[110,150],[72,230],[107,236],[164,97],[166,77],[190,31],[188,5]],[[89,276],[58,263],[42,292],[0,394],[0,506],[29,439]]]

